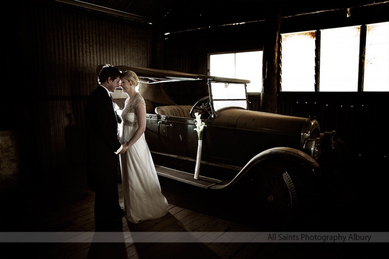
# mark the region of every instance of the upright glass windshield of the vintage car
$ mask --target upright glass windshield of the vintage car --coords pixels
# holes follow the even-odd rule
[[[215,112],[226,107],[248,108],[245,84],[212,82],[211,89]]]

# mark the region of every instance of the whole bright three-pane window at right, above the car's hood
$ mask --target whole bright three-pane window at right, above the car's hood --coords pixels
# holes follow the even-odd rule
[[[281,34],[281,91],[389,92],[389,22],[361,28]]]

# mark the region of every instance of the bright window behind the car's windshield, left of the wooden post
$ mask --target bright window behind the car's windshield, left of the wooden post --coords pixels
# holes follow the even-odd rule
[[[250,80],[247,91],[262,91],[262,51],[210,54],[210,75]]]

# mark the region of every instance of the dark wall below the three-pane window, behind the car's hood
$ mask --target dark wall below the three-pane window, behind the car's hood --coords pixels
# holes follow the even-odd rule
[[[281,114],[314,117],[363,159],[388,159],[389,93],[280,93]]]

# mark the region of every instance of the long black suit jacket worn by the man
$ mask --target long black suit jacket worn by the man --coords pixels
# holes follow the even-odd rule
[[[88,188],[117,194],[118,122],[111,97],[99,85],[86,103]]]

